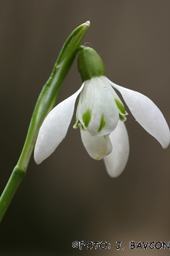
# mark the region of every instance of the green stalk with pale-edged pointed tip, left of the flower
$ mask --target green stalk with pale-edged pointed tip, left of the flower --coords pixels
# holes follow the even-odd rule
[[[46,115],[54,107],[61,85],[71,68],[75,56],[79,51],[79,44],[89,26],[90,22],[87,21],[69,35],[56,60],[50,78],[39,94],[20,158],[0,198],[0,223],[27,171],[39,128]]]

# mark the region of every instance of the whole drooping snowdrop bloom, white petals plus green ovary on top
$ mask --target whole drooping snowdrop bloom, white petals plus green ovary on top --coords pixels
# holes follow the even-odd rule
[[[39,130],[34,153],[37,164],[48,158],[65,138],[79,94],[73,128],[80,127],[86,151],[96,160],[103,158],[111,177],[122,173],[129,158],[129,138],[124,125],[127,113],[114,89],[122,94],[136,121],[163,148],[169,145],[169,127],[158,107],[143,94],[109,81],[103,61],[94,49],[82,49],[78,55],[78,70],[82,86],[50,111]]]

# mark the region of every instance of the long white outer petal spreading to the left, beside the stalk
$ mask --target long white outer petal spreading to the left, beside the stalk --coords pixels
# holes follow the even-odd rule
[[[48,158],[63,141],[73,117],[75,100],[84,87],[84,83],[72,96],[58,104],[48,113],[39,130],[35,144],[34,159],[37,165]]]

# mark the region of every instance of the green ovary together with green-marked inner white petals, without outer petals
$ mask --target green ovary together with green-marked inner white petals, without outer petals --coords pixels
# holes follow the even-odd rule
[[[101,57],[92,48],[84,48],[78,55],[78,70],[84,88],[80,94],[74,128],[82,124],[91,136],[103,136],[114,131],[118,119],[127,115],[122,101],[105,76]]]

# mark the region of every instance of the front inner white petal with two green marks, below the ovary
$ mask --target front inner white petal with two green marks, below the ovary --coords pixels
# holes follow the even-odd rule
[[[84,129],[91,136],[103,136],[116,128],[118,118],[118,107],[107,85],[99,77],[86,81],[78,109],[78,119]]]

